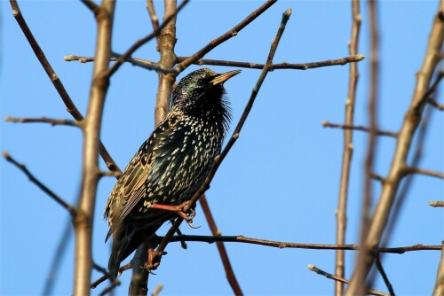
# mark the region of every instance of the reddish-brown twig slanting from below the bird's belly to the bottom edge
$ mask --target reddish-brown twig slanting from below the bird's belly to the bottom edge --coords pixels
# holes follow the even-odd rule
[[[221,232],[218,229],[216,222],[214,221],[213,214],[211,214],[210,206],[208,205],[208,201],[207,198],[205,197],[205,194],[202,195],[201,199],[199,199],[199,202],[202,206],[203,214],[205,214],[205,218],[207,219],[208,226],[210,227],[212,235],[214,237],[220,237]],[[233,267],[231,266],[230,259],[228,258],[228,253],[226,253],[224,242],[216,242],[216,245],[218,246],[218,253],[220,255],[222,264],[224,265],[226,279],[228,280],[228,283],[230,284],[231,289],[234,292],[234,295],[243,295],[241,286],[239,285],[239,282],[237,281],[237,278],[234,275],[234,270]]]

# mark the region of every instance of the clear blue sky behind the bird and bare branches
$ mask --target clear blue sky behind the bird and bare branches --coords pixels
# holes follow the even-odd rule
[[[91,85],[92,64],[66,62],[64,56],[92,56],[95,20],[77,1],[20,1],[20,8],[46,57],[67,92],[84,114]],[[257,1],[194,1],[178,16],[176,52],[188,56],[211,39],[225,33],[256,9]],[[163,3],[155,2],[160,18]],[[379,5],[381,28],[381,75],[379,124],[381,129],[400,129],[424,57],[425,44],[438,1],[384,1]],[[304,63],[348,55],[351,35],[349,1],[281,1],[237,36],[205,58],[264,63],[270,43],[288,7],[293,14],[274,62]],[[56,90],[31,51],[12,17],[11,6],[2,1],[1,118],[51,117],[70,119]],[[369,57],[367,4],[361,5],[359,52]],[[144,1],[116,5],[113,50],[126,51],[151,32]],[[155,42],[134,55],[158,60]],[[196,69],[191,66],[186,73]],[[216,71],[226,67],[211,66]],[[356,124],[367,124],[369,59],[359,64],[361,78],[356,104]],[[226,83],[238,121],[258,70],[243,69]],[[242,134],[218,170],[208,199],[218,228],[225,235],[244,235],[288,242],[334,244],[338,181],[343,133],[323,129],[322,121],[344,121],[348,66],[307,71],[276,70],[268,74]],[[180,76],[182,77],[183,74]],[[153,129],[157,75],[125,65],[111,80],[101,139],[120,167],[125,167]],[[440,97],[442,103],[442,96]],[[235,124],[232,124],[234,127]],[[1,123],[2,151],[8,151],[53,191],[71,204],[77,198],[82,158],[82,135],[70,127],[47,124]],[[443,113],[432,112],[420,167],[444,170]],[[358,242],[361,213],[362,171],[367,135],[354,134],[346,242]],[[376,171],[385,175],[394,147],[392,138],[380,137]],[[0,293],[40,294],[53,253],[67,223],[68,214],[25,175],[5,160],[1,164],[1,276]],[[102,162],[100,166],[106,168]],[[107,224],[102,220],[114,178],[99,182],[94,222],[94,260],[107,265],[109,244],[104,245]],[[374,183],[376,193],[379,184]],[[442,208],[428,206],[443,198],[440,179],[417,175],[400,214],[391,246],[440,245],[444,235]],[[376,195],[377,197],[377,195]],[[208,235],[202,210],[186,234]],[[167,230],[163,228],[159,233]],[[234,272],[246,294],[332,294],[333,281],[309,271],[307,264],[334,272],[334,251],[277,249],[258,245],[226,244]],[[231,294],[216,245],[177,243],[167,248],[156,276],[149,279],[152,292],[163,284],[162,294]],[[356,253],[346,253],[346,277],[351,277]],[[400,295],[431,294],[440,252],[387,254],[384,266],[394,291]],[[60,269],[54,294],[72,292],[73,238]],[[130,272],[122,277],[117,293],[125,294]],[[99,273],[94,272],[93,279]],[[99,294],[102,284],[92,291]],[[374,288],[385,291],[379,277]]]

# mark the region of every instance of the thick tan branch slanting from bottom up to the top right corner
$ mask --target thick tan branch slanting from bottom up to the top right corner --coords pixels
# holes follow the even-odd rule
[[[392,165],[383,183],[377,207],[369,225],[369,235],[363,247],[367,253],[361,253],[359,266],[354,269],[351,284],[348,286],[346,295],[358,294],[362,281],[369,274],[374,261],[377,247],[380,244],[385,226],[388,222],[393,201],[398,191],[401,179],[407,173],[407,157],[412,143],[413,136],[422,119],[424,105],[427,104],[427,91],[432,80],[432,74],[440,62],[440,49],[444,39],[444,2],[440,0],[438,12],[436,13],[432,30],[429,35],[427,49],[424,55],[423,65],[416,74],[416,86],[413,97],[404,116],[404,121],[397,138],[395,152],[392,158]]]

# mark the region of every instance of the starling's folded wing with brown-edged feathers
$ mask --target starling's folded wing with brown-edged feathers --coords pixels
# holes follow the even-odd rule
[[[131,213],[131,210],[141,199],[148,199],[148,179],[150,179],[150,182],[154,181],[148,175],[153,175],[153,170],[163,172],[162,167],[165,161],[162,160],[165,151],[175,149],[174,143],[170,139],[171,131],[174,130],[176,134],[182,134],[181,129],[175,129],[180,120],[180,115],[171,114],[162,121],[147,141],[140,146],[139,151],[134,155],[123,175],[115,184],[105,209],[105,217],[109,217],[110,227],[107,238],[119,227],[123,219]],[[156,201],[155,196],[149,199],[153,203]]]

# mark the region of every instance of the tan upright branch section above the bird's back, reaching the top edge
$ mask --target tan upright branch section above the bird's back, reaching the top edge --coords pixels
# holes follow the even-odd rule
[[[163,20],[176,12],[176,0],[165,0]],[[164,69],[172,69],[176,64],[176,54],[174,46],[176,45],[176,17],[163,28],[159,36],[159,51],[161,59],[159,66]],[[155,126],[157,126],[166,117],[170,110],[171,90],[176,76],[173,74],[163,74],[158,72],[159,84],[155,103]]]

